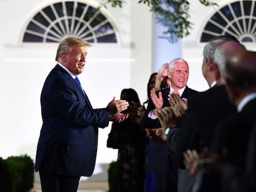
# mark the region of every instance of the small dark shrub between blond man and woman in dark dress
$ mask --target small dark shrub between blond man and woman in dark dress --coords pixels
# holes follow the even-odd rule
[[[108,169],[108,192],[117,192],[117,162],[112,161]]]

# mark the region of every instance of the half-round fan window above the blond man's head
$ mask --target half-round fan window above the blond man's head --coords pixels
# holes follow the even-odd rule
[[[38,10],[24,27],[21,43],[59,43],[75,36],[90,43],[117,43],[113,20],[103,7],[59,1]]]

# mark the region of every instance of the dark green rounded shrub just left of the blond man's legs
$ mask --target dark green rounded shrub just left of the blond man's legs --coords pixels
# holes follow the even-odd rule
[[[33,188],[34,163],[30,157],[11,156],[5,162],[11,175],[12,191],[25,192]]]

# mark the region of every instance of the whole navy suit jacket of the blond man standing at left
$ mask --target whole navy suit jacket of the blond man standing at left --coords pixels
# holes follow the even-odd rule
[[[106,109],[93,109],[75,80],[56,65],[41,91],[43,125],[36,150],[35,170],[70,176],[92,175],[98,127],[109,123]]]

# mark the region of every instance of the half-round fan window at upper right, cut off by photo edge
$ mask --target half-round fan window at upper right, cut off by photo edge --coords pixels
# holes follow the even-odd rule
[[[200,42],[219,35],[233,35],[242,43],[256,43],[255,1],[234,1],[218,7],[203,27]]]

